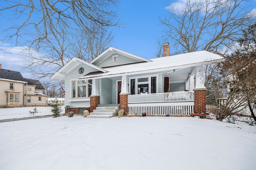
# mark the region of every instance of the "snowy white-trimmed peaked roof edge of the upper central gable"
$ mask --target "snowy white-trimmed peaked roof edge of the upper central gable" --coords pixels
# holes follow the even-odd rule
[[[125,57],[129,57],[131,59],[137,60],[138,62],[150,62],[151,60],[145,59],[143,57],[140,57],[138,55],[134,55],[132,53],[128,53],[126,51],[122,51],[120,49],[114,48],[114,47],[109,47],[106,49],[103,53],[101,53],[98,57],[93,59],[90,63],[94,65],[98,65],[102,63],[104,60],[106,60],[108,57],[110,57],[113,54],[120,54],[124,55]]]

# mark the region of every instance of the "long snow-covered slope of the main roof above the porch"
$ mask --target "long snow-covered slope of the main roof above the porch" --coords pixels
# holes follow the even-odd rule
[[[153,62],[136,63],[124,66],[116,66],[111,68],[104,68],[108,72],[102,74],[91,74],[80,77],[82,78],[102,78],[102,77],[113,77],[121,76],[124,74],[141,74],[148,72],[157,72],[172,70],[176,68],[186,68],[191,66],[203,65],[210,62],[216,62],[223,59],[220,55],[210,53],[208,51],[197,51],[192,53],[161,57],[150,59]]]

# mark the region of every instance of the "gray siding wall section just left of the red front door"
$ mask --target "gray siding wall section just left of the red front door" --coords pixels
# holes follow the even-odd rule
[[[100,104],[112,103],[112,80],[109,78],[102,78],[98,81]]]

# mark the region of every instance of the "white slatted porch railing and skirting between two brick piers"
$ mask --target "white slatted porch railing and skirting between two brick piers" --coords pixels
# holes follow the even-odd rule
[[[194,113],[194,92],[128,95],[129,114],[190,115]]]

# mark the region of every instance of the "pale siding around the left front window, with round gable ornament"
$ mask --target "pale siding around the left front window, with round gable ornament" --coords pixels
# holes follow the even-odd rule
[[[79,74],[78,73],[78,69],[80,67],[84,68],[84,73],[83,74]],[[81,76],[88,74],[89,72],[95,72],[98,71],[95,68],[92,68],[86,64],[80,64],[78,65],[75,69],[73,69],[70,73],[68,73],[65,77],[65,105],[68,106],[82,106],[82,105],[89,105],[90,106],[90,101],[86,101],[86,102],[68,102],[68,100],[71,99],[71,84],[70,84],[70,80],[74,80],[76,78],[80,78]]]

